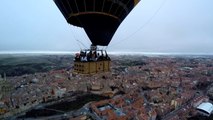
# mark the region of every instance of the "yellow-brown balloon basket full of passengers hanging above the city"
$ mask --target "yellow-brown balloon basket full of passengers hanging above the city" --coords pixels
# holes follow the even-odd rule
[[[104,50],[87,49],[77,53],[74,60],[74,73],[96,74],[110,71],[111,60]]]

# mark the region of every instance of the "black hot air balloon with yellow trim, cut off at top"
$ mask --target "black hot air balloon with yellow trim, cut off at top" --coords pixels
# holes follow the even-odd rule
[[[88,50],[90,53],[92,51],[96,52],[96,46],[98,45],[108,46],[119,25],[139,1],[140,0],[54,0],[68,23],[82,27],[85,30],[92,42],[91,48]],[[103,51],[100,51],[100,53],[103,54]],[[105,56],[108,56],[106,51]],[[80,64],[75,64],[75,66],[79,65]],[[102,64],[100,65],[104,66]],[[88,66],[94,67],[94,65]],[[96,70],[93,71],[97,71],[97,68],[100,67],[96,65],[95,68]],[[107,68],[106,70],[109,70],[109,64]],[[80,67],[78,67],[77,71],[79,69]],[[101,67],[100,69],[100,71],[103,71],[105,67]],[[91,72],[87,71],[86,73]]]

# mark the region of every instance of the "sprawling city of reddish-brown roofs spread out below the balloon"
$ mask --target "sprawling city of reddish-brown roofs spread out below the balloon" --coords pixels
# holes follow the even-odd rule
[[[212,56],[111,55],[111,59],[110,72],[93,75],[75,74],[70,66],[20,76],[2,74],[0,118],[210,118],[213,108],[208,113],[202,104],[213,103]]]

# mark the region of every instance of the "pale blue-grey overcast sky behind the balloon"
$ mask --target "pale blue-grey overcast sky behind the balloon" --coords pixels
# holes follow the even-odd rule
[[[212,5],[213,0],[141,0],[101,49],[213,54]],[[0,52],[79,51],[90,44],[53,0],[1,0]]]

